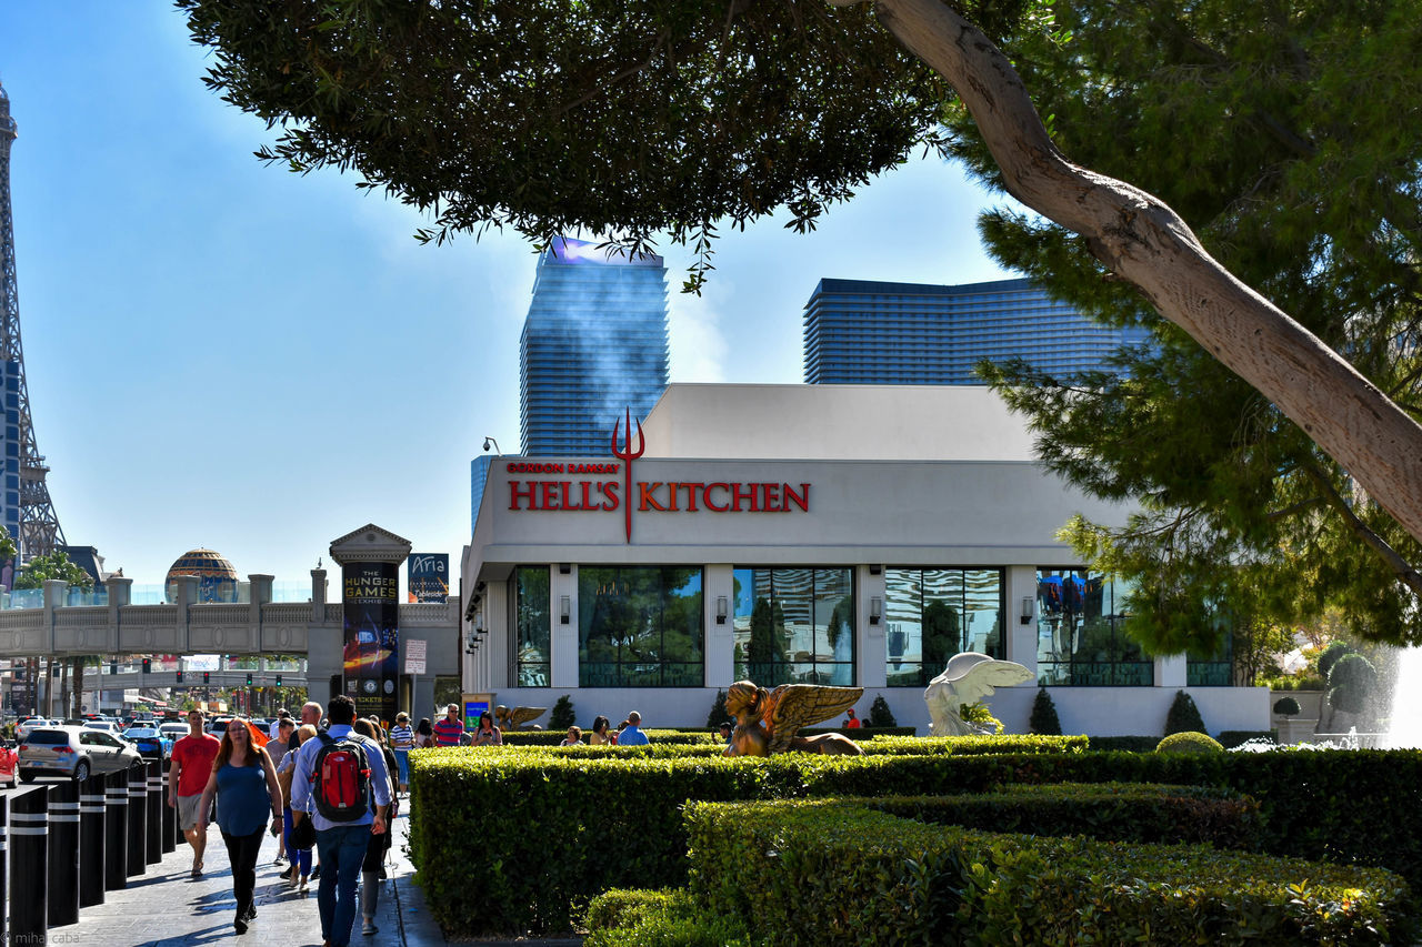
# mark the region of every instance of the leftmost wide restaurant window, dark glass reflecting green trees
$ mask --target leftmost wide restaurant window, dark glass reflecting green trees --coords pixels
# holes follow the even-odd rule
[[[580,687],[702,687],[698,566],[579,566]]]

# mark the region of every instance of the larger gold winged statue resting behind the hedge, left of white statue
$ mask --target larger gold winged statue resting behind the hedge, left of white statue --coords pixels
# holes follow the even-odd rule
[[[774,691],[751,681],[737,681],[725,695],[725,710],[735,718],[727,756],[769,756],[785,751],[857,756],[859,744],[839,734],[798,737],[811,727],[838,717],[859,702],[862,687],[781,684]]]

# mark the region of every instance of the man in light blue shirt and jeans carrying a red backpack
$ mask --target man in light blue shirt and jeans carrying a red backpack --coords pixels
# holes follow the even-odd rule
[[[385,755],[380,747],[351,732],[356,701],[338,694],[326,705],[326,715],[331,725],[324,737],[333,741],[356,741],[365,751],[365,762],[370,766],[367,785],[374,796],[374,812],[367,806],[360,816],[348,822],[334,822],[320,813],[311,793],[317,789],[316,756],[326,741],[317,737],[301,744],[301,749],[296,754],[296,775],[292,778],[292,823],[294,826],[301,819],[311,819],[316,826],[316,850],[321,859],[321,883],[316,893],[321,937],[330,947],[348,947],[351,926],[356,923],[356,883],[360,880],[360,867],[370,847],[370,836],[387,830],[390,774],[385,772]],[[311,802],[310,806],[307,801]]]

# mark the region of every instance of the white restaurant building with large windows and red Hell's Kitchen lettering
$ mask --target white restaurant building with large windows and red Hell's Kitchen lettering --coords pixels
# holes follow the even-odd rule
[[[674,384],[616,421],[610,456],[491,466],[464,552],[468,692],[701,727],[735,680],[855,684],[862,717],[882,694],[927,732],[923,688],[981,651],[1031,668],[1065,732],[1159,734],[1180,690],[1213,732],[1268,727],[1227,653],[1122,634],[1125,589],[1055,533],[1126,509],[1038,465],[987,388]],[[1035,692],[998,690],[1008,731]]]

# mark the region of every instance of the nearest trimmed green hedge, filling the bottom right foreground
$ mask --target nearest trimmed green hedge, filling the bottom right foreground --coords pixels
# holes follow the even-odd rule
[[[691,890],[774,944],[1388,944],[1378,869],[1183,845],[994,835],[845,802],[687,810]]]

